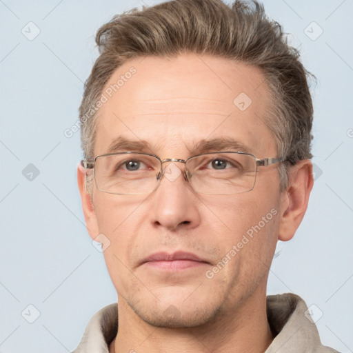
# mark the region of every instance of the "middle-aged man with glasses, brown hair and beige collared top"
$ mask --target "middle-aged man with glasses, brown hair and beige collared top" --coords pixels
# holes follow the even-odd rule
[[[74,352],[336,352],[299,296],[266,298],[313,184],[308,73],[278,23],[175,0],[97,44],[78,181],[119,300]]]

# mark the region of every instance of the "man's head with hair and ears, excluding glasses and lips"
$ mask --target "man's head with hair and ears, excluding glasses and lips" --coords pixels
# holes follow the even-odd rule
[[[260,167],[251,191],[223,195],[195,192],[183,174],[150,194],[108,194],[78,170],[88,231],[110,242],[121,305],[174,327],[240,310],[265,294],[276,241],[292,238],[312,188],[312,101],[299,53],[261,5],[220,0],[132,10],[102,26],[97,44],[80,107],[85,157],[125,141],[119,152],[188,159],[205,141],[219,152],[219,141],[233,140],[241,147],[226,151],[285,159]],[[156,252],[201,262],[161,270],[145,262]]]

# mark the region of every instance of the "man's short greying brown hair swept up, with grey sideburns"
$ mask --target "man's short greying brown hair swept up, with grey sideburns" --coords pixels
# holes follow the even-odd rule
[[[288,45],[282,27],[266,17],[257,1],[173,0],[117,15],[97,32],[100,56],[85,83],[79,110],[81,145],[93,157],[97,106],[103,88],[119,66],[135,57],[210,54],[260,68],[270,88],[266,117],[278,154],[292,163],[310,159],[312,99],[299,51]],[[311,75],[312,76],[312,75]],[[281,189],[289,163],[281,163]]]

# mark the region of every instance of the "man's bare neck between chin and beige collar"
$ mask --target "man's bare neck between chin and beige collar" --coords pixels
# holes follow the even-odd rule
[[[110,353],[255,353],[265,352],[273,339],[265,294],[260,300],[254,293],[234,312],[223,313],[201,327],[154,327],[139,319],[125,301],[119,300],[118,308],[119,330],[110,345]]]

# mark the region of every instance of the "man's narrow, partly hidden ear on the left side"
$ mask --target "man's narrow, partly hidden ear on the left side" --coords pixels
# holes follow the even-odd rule
[[[99,234],[99,227],[97,222],[96,211],[92,202],[92,196],[88,193],[85,183],[85,168],[81,163],[77,167],[77,182],[81,194],[81,203],[83,214],[85,216],[85,225],[88,234],[92,239],[95,239]]]

